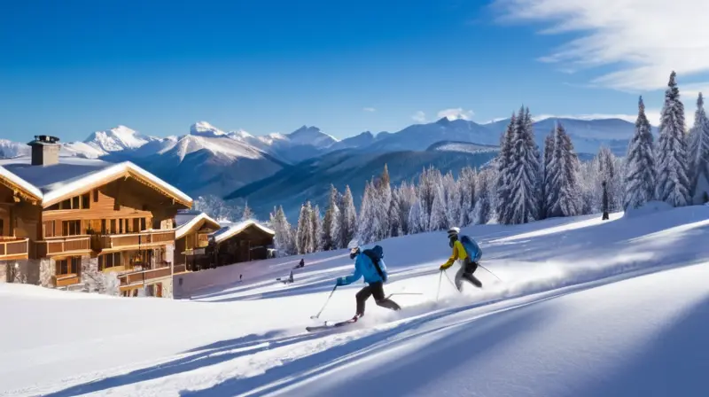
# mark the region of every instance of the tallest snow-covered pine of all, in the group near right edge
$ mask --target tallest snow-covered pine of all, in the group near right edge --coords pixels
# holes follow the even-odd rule
[[[690,204],[690,179],[687,177],[684,105],[675,78],[673,71],[660,114],[657,197],[672,206],[687,206]]]

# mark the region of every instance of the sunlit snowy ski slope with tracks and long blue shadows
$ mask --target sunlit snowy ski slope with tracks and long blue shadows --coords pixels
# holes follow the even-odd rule
[[[194,300],[0,284],[0,395],[701,396],[708,219],[696,206],[471,227],[503,282],[479,269],[486,289],[463,295],[437,271],[445,233],[389,239],[386,291],[423,295],[394,295],[400,313],[370,301],[325,333],[303,328],[352,269],[344,251],[308,255],[290,285],[275,278],[300,257],[199,272]],[[352,315],[360,287],[322,318]]]

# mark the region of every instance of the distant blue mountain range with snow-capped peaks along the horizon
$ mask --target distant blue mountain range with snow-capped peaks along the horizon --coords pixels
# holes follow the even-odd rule
[[[62,143],[61,152],[65,156],[107,161],[131,160],[191,195],[214,194],[223,197],[249,183],[276,175],[284,168],[296,167],[304,160],[317,159],[332,152],[351,152],[354,157],[348,159],[368,153],[428,152],[422,157],[427,159],[432,156],[430,150],[436,148],[436,144],[440,144],[435,149],[438,152],[467,152],[471,148],[464,147],[465,143],[495,146],[499,144],[508,122],[479,124],[443,118],[432,123],[411,125],[394,133],[373,134],[366,131],[342,140],[313,126],[303,126],[290,134],[254,136],[242,129],[226,131],[206,121],[199,121],[191,125],[186,134],[168,137],[147,136],[118,126],[93,132],[82,142]],[[634,128],[632,123],[619,119],[551,118],[534,123],[540,146],[544,136],[557,122],[565,125],[576,151],[588,154],[595,154],[602,144],[610,146],[616,154],[624,154]],[[26,155],[28,152],[29,147],[25,143],[0,139],[0,158]],[[352,165],[354,169],[369,169],[365,165],[371,158],[364,155],[361,158],[361,163]],[[420,167],[419,161],[412,161],[411,164]],[[325,178],[327,175],[322,176]],[[361,176],[366,179],[371,175]]]

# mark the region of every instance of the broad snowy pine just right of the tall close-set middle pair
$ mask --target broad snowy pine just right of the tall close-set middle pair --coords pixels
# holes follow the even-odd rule
[[[571,137],[561,123],[557,123],[554,149],[554,175],[552,189],[557,191],[557,200],[550,206],[550,216],[575,216],[580,214],[580,186],[578,183],[579,158],[573,151]]]

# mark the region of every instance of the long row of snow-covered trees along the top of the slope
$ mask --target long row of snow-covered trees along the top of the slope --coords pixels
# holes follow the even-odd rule
[[[417,181],[392,186],[385,165],[366,183],[359,213],[349,186],[331,186],[324,214],[307,201],[292,226],[283,207],[269,222],[281,255],[315,253],[347,247],[356,237],[369,244],[450,226],[519,224],[551,217],[627,210],[651,200],[672,206],[709,201],[709,120],[704,98],[697,98],[694,126],[685,128],[684,106],[673,72],[667,85],[657,143],[638,104],[635,131],[627,155],[619,159],[601,147],[593,160],[581,162],[573,141],[557,122],[540,150],[529,109],[513,113],[495,160],[458,175],[423,169]]]

